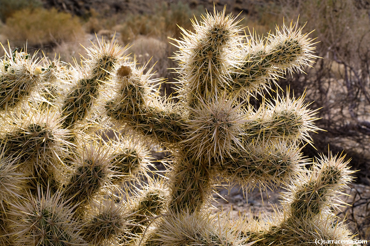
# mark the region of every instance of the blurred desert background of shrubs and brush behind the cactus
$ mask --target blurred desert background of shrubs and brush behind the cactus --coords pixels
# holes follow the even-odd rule
[[[178,26],[191,30],[194,16],[225,4],[259,36],[298,16],[304,31],[315,30],[310,36],[324,59],[278,84],[290,85],[296,96],[306,93],[310,107],[321,108],[317,125],[326,131],[312,135],[316,149],[307,145],[305,154],[347,153],[360,170],[357,182],[370,185],[370,0],[0,0],[0,41],[6,47],[9,40],[12,49],[27,42],[28,52],[41,49],[72,63],[84,54],[80,44],[115,35],[122,45],[133,44],[129,51],[139,63],[157,62],[156,76],[168,79],[162,89],[170,94],[176,82],[168,69],[176,67],[170,38],[181,37]]]

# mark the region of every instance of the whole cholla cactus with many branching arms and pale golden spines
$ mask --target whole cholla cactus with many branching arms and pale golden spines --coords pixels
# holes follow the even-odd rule
[[[351,181],[344,157],[321,156],[308,170],[300,153],[319,130],[315,110],[289,91],[258,109],[249,103],[313,62],[313,40],[297,23],[266,38],[245,36],[236,18],[216,10],[193,26],[174,40],[178,103],[161,98],[163,80],[113,39],[88,48],[72,68],[9,48],[0,73],[1,246],[352,239],[332,214]],[[146,175],[153,144],[172,152],[158,180]],[[142,175],[148,184],[132,185]],[[210,215],[225,181],[247,192],[282,185],[289,192],[271,220],[233,221]]]

